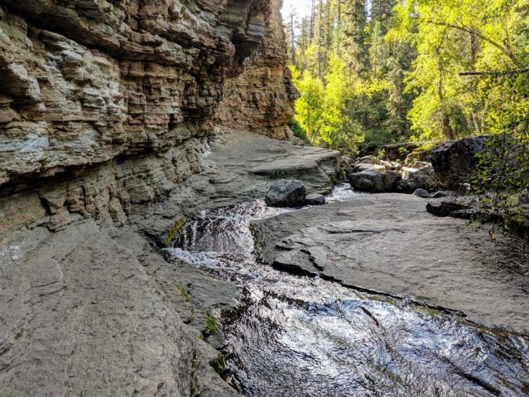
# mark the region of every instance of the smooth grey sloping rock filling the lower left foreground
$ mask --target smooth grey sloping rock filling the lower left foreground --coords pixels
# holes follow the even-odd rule
[[[1,245],[2,396],[235,394],[182,322],[175,272],[124,232],[82,221]]]

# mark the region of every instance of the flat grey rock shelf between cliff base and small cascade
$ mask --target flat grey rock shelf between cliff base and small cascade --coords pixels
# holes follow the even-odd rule
[[[339,152],[299,147],[245,130],[223,130],[212,146],[202,160],[202,173],[190,176],[164,202],[130,216],[142,233],[164,241],[184,212],[265,197],[278,179],[298,179],[308,193],[332,190]]]

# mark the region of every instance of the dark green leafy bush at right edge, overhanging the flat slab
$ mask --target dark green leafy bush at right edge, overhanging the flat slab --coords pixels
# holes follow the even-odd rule
[[[523,231],[529,237],[529,121],[490,135],[477,157],[470,178],[473,193],[479,197],[473,220],[499,222],[502,228]]]

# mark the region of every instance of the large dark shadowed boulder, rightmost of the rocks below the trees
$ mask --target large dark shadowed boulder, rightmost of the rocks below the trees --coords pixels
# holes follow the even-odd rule
[[[482,152],[485,137],[443,142],[430,150],[430,161],[437,176],[449,188],[456,188],[475,169],[475,155]]]

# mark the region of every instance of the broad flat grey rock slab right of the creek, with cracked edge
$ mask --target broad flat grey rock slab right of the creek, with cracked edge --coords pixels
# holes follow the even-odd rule
[[[419,197],[355,197],[258,221],[255,230],[274,267],[529,331],[529,269],[518,245],[432,216]]]

